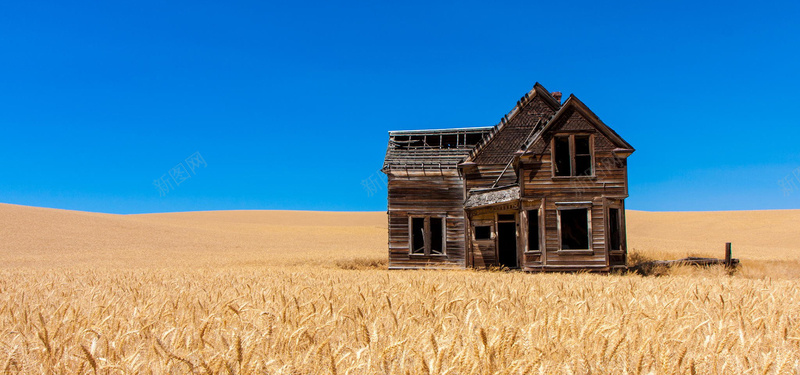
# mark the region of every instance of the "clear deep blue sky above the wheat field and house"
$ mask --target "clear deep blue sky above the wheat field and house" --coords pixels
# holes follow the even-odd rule
[[[799,19],[797,1],[5,1],[0,202],[382,211],[363,182],[389,130],[494,125],[538,81],[636,147],[629,209],[796,209]]]

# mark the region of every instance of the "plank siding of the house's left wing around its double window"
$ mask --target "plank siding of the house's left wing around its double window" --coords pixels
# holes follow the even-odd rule
[[[464,182],[455,169],[390,171],[389,268],[463,268]],[[444,216],[445,255],[418,255],[409,250],[410,216]]]

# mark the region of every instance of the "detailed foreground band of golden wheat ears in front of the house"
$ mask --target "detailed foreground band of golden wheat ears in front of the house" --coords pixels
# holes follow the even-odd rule
[[[303,267],[0,280],[11,372],[800,371],[788,280]]]

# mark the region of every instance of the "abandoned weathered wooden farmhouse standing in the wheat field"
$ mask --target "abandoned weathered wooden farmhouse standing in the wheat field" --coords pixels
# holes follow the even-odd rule
[[[536,84],[490,127],[389,132],[389,268],[624,268],[634,149]]]

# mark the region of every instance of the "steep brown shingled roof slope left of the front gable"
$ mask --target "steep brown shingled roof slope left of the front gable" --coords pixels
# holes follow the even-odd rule
[[[537,100],[538,99],[538,100]],[[536,103],[534,103],[536,101]],[[549,110],[534,108],[543,103]],[[548,122],[561,104],[539,82],[533,85],[516,106],[503,116],[500,123],[470,153],[467,162],[477,164],[508,164],[519,151],[526,139]],[[541,107],[541,105],[539,105]]]

